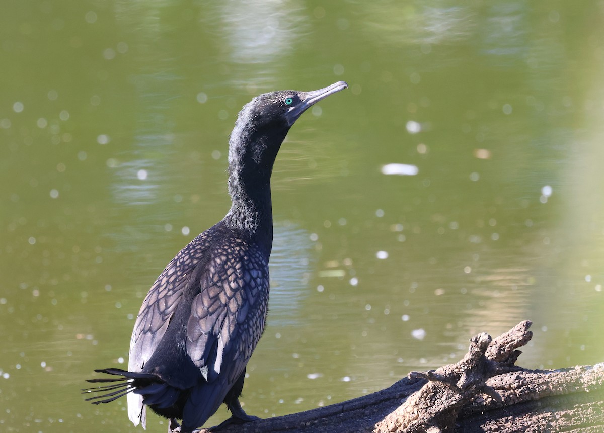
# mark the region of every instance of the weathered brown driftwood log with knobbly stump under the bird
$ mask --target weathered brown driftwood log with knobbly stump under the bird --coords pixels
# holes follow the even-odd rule
[[[481,333],[456,364],[414,371],[377,393],[223,432],[603,432],[604,363],[516,367],[530,325],[519,323],[492,341]]]

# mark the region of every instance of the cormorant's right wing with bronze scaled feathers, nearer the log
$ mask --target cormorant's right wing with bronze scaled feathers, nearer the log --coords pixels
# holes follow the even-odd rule
[[[234,239],[216,251],[204,278],[204,289],[191,305],[187,352],[208,384],[219,379],[233,385],[264,329],[268,259],[257,248]],[[222,388],[226,394],[231,386]]]

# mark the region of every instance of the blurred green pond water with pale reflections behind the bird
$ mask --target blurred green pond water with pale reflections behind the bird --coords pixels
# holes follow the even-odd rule
[[[147,289],[229,209],[240,107],[338,80],[275,163],[246,411],[371,393],[525,319],[519,365],[604,361],[604,2],[28,0],[0,58],[2,431],[142,431],[84,380],[127,365]]]

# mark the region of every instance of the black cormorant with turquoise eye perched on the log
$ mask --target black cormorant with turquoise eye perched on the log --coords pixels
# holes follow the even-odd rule
[[[245,367],[266,323],[272,249],[271,172],[281,143],[310,106],[345,89],[344,81],[312,92],[256,96],[237,116],[229,140],[228,191],[222,221],[184,247],[159,275],[141,306],[128,370],[85,392],[92,403],[127,396],[128,416],[146,426],[145,406],[190,433],[224,402],[228,423],[257,420],[239,404]]]

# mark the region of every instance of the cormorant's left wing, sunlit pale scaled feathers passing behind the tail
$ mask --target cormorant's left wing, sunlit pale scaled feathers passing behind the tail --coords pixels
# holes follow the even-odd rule
[[[142,371],[144,364],[155,352],[178,306],[182,292],[187,287],[194,268],[203,260],[209,244],[208,232],[197,236],[176,254],[149,289],[132,330],[129,371]],[[138,425],[140,421],[144,426],[146,416],[143,410],[143,396],[130,393],[127,394],[127,400],[130,421],[134,425]]]

